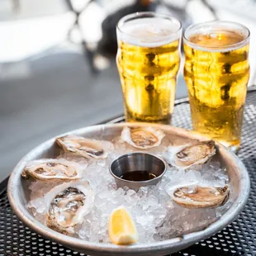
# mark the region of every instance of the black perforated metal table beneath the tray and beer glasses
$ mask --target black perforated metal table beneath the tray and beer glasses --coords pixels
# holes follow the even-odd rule
[[[109,122],[121,121],[124,121],[123,116]],[[192,129],[187,99],[176,102],[173,126]],[[224,230],[173,256],[256,255],[256,88],[249,88],[247,96],[239,158],[244,162],[251,179],[251,194],[244,211]],[[0,184],[0,255],[72,256],[84,254],[43,239],[23,225],[13,214],[9,205],[6,179]]]

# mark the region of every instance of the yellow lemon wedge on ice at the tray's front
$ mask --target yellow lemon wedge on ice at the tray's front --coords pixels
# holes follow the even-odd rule
[[[108,233],[113,244],[134,244],[139,239],[135,223],[124,206],[112,211]]]

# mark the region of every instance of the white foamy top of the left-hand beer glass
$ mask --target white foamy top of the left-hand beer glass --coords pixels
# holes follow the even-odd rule
[[[117,36],[131,45],[156,47],[177,40],[181,25],[176,19],[143,17],[117,26]]]

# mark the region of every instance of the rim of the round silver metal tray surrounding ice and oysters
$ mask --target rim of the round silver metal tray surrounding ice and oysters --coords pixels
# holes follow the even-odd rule
[[[195,132],[184,130],[173,126],[153,125],[146,123],[121,123],[116,125],[101,125],[101,126],[89,126],[79,130],[73,130],[67,134],[83,135],[93,139],[99,140],[111,140],[116,135],[121,134],[121,130],[124,126],[155,126],[164,131],[169,140],[174,141],[176,144],[184,144],[192,140],[207,140]],[[65,134],[66,135],[66,134]],[[224,146],[216,144],[217,154],[216,158],[220,160],[223,167],[227,168],[230,176],[230,185],[232,186],[232,192],[230,199],[232,205],[229,210],[225,212],[219,220],[207,226],[205,230],[192,232],[182,237],[173,239],[167,239],[160,242],[150,244],[134,244],[130,246],[118,246],[115,244],[100,244],[85,241],[83,239],[69,237],[62,235],[55,230],[51,230],[45,225],[42,225],[36,220],[28,211],[27,201],[29,200],[29,190],[25,186],[23,179],[21,178],[21,171],[26,165],[26,162],[34,159],[42,158],[55,158],[59,155],[60,149],[55,145],[55,138],[47,140],[45,143],[32,149],[30,153],[21,159],[14,168],[8,183],[7,194],[13,211],[18,218],[31,230],[36,231],[47,239],[51,239],[59,244],[64,244],[70,249],[77,250],[84,254],[91,255],[154,255],[163,256],[172,254],[178,250],[185,249],[186,247],[195,244],[201,239],[216,234],[216,232],[222,230],[226,225],[229,225],[231,221],[239,215],[243,210],[243,207],[249,197],[249,175],[244,167],[244,164],[239,158],[225,149]]]

